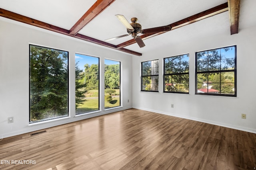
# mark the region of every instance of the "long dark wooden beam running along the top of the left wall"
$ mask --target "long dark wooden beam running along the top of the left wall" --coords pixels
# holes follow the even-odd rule
[[[57,32],[57,33],[61,33],[61,34],[64,34],[64,35],[68,35],[70,37],[82,39],[82,40],[85,40],[85,41],[88,41],[88,42],[92,42],[92,43],[95,43],[95,44],[98,44],[98,45],[102,45],[104,47],[109,47],[109,48],[112,48],[112,49],[116,49],[118,51],[123,51],[123,52],[126,52],[126,53],[130,53],[132,55],[138,55],[138,56],[142,55],[141,53],[138,53],[136,51],[131,51],[131,50],[124,49],[124,48],[119,48],[118,49],[116,47],[116,45],[106,43],[104,41],[100,41],[100,40],[94,39],[92,37],[88,37],[88,36],[81,35],[81,34],[72,35],[72,34],[69,33],[70,31],[67,30],[67,29],[56,27],[54,25],[51,25],[51,24],[48,24],[48,23],[45,23],[45,22],[42,22],[42,21],[34,20],[33,18],[22,16],[20,14],[10,12],[10,11],[4,10],[2,8],[0,8],[0,16],[2,16],[4,18],[11,19],[11,20],[20,21],[22,23],[33,25],[33,26],[36,26],[36,27],[40,27],[40,28],[43,28],[43,29],[47,29],[47,30],[50,30],[50,31],[54,31],[54,32]]]

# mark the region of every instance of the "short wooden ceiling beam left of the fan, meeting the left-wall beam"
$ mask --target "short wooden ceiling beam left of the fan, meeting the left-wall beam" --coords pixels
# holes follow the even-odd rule
[[[102,11],[104,11],[115,0],[97,0],[91,8],[75,23],[70,29],[70,34],[76,35],[86,24],[92,21]]]

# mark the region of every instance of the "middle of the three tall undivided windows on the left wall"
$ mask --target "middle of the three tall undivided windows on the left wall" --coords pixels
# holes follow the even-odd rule
[[[77,54],[76,114],[99,110],[99,58]]]

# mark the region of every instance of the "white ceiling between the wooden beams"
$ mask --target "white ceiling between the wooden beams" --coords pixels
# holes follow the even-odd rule
[[[69,30],[95,2],[96,0],[0,0],[0,8]],[[147,29],[174,23],[225,2],[227,0],[115,0],[79,33],[104,41],[127,33],[126,27],[115,17],[116,14],[124,15],[128,21],[136,17],[142,29]],[[256,25],[255,7],[256,0],[241,0],[239,31]],[[146,46],[143,48],[136,43],[125,48],[144,53],[160,46],[168,47],[174,43],[219,33],[230,35],[228,12],[145,39],[143,41]],[[122,37],[108,43],[118,45],[130,39],[131,36]]]

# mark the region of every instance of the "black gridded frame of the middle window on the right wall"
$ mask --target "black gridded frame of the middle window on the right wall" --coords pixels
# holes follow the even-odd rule
[[[176,73],[166,73],[166,62],[165,62],[165,60],[166,59],[170,59],[170,58],[175,58],[175,57],[181,57],[181,56],[184,56],[184,55],[187,55],[188,56],[188,59],[189,59],[189,53],[187,53],[187,54],[183,54],[183,55],[176,55],[176,56],[172,56],[172,57],[166,57],[166,58],[164,58],[164,60],[163,60],[163,62],[164,62],[164,68],[163,68],[163,72],[164,72],[164,77],[163,77],[163,92],[164,93],[180,93],[180,94],[189,94],[189,60],[188,60],[188,72],[181,72],[181,69],[179,69],[180,71],[179,72],[176,72]],[[181,63],[181,59],[179,59],[180,61],[179,61],[179,64],[175,64],[175,65],[178,65],[180,68],[181,68],[181,65],[183,64],[183,63]],[[172,65],[172,67],[173,67],[173,65]],[[165,79],[166,79],[166,76],[181,76],[181,75],[188,75],[188,83],[186,83],[186,84],[188,84],[188,92],[177,92],[177,91],[166,91],[165,90],[165,88],[166,88],[166,83],[165,83]],[[181,84],[181,79],[179,78],[179,82],[178,82],[179,84]]]

